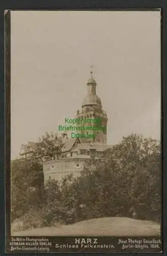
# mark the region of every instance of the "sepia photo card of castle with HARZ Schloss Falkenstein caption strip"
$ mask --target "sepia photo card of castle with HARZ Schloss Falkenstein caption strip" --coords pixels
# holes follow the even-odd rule
[[[10,56],[8,252],[162,251],[161,10],[10,11]]]

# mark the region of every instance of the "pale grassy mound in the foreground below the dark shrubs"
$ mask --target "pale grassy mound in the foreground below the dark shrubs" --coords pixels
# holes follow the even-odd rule
[[[13,236],[159,236],[160,225],[123,217],[98,218],[62,225],[14,232]]]

